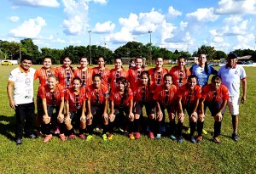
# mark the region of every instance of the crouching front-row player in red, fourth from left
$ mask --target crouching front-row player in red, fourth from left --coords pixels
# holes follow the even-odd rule
[[[133,135],[133,121],[134,115],[132,113],[133,107],[133,93],[128,87],[128,81],[125,77],[121,76],[117,79],[116,87],[111,89],[109,95],[110,100],[110,111],[109,111],[109,123],[108,130],[109,135],[108,139],[113,139],[113,121],[115,120],[116,115],[122,115],[125,112],[125,115],[128,119],[129,126],[129,138],[135,139]],[[120,118],[123,119],[123,118]]]

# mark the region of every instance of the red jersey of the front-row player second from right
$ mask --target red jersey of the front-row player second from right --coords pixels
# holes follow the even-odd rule
[[[188,85],[185,84],[177,90],[177,97],[182,98],[183,105],[193,105],[198,98],[201,98],[201,87],[195,85],[193,91],[190,91]]]

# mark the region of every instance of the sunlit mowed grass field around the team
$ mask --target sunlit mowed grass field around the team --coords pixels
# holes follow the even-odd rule
[[[37,69],[40,66],[33,67]],[[147,135],[132,141],[125,135],[116,134],[112,141],[107,142],[103,142],[98,135],[90,142],[79,138],[61,142],[59,138],[54,138],[49,143],[43,143],[42,138],[24,138],[20,146],[14,142],[15,111],[10,109],[6,93],[9,72],[14,68],[15,65],[1,66],[1,173],[256,173],[254,67],[245,68],[247,101],[240,106],[241,139],[237,143],[230,138],[232,126],[227,111],[220,145],[212,142],[213,119],[207,115],[205,129],[208,134],[204,135],[201,143],[195,144],[188,140],[178,144],[168,137],[150,140]],[[170,67],[167,68],[170,70]],[[35,91],[37,87],[38,81]],[[169,121],[166,119],[166,122],[168,124]],[[188,119],[184,125],[188,126]]]

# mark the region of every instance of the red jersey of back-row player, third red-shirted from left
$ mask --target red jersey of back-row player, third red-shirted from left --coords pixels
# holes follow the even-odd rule
[[[89,87],[92,84],[92,73],[93,70],[87,68],[87,70],[83,70],[83,68],[77,68],[74,70],[74,76],[79,77],[82,80],[82,87]]]

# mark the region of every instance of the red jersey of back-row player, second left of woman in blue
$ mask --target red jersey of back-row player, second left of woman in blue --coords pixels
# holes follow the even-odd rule
[[[158,71],[155,68],[151,68],[148,70],[148,73],[151,81],[159,86],[164,84],[164,76],[168,73],[168,70],[166,68],[162,68],[162,70]]]

